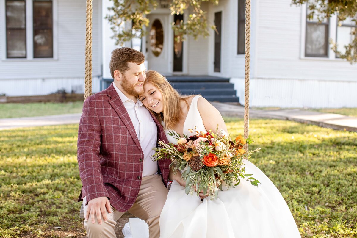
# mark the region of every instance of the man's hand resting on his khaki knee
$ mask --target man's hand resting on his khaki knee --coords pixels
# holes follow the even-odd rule
[[[112,213],[109,199],[107,197],[94,198],[88,202],[85,218],[88,220],[88,216],[90,214],[92,223],[95,223],[95,216],[97,216],[98,223],[102,224],[102,218],[100,214],[103,215],[104,221],[107,221],[107,212],[105,210],[107,210],[109,213]]]

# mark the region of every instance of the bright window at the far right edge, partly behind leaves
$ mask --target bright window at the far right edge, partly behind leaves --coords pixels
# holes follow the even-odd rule
[[[346,20],[341,22],[341,25],[337,24],[336,30],[336,43],[337,43],[337,51],[345,54],[346,49],[345,45],[351,44],[353,39],[355,39],[355,34],[357,34],[357,26],[356,22],[352,21],[352,18],[347,18]],[[339,56],[336,55],[336,58]]]

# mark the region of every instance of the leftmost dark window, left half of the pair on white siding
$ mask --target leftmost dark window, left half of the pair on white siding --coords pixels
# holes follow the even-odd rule
[[[25,1],[6,0],[6,57],[26,58]]]

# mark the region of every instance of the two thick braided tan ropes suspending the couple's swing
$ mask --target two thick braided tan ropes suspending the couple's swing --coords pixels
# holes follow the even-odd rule
[[[248,138],[249,136],[250,14],[251,14],[251,1],[246,0],[244,138]],[[92,0],[87,0],[84,98],[86,99],[91,95],[92,95]],[[248,151],[248,144],[245,144],[245,150]]]

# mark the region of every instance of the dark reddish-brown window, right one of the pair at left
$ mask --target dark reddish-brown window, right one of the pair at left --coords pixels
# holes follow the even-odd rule
[[[33,1],[34,58],[53,57],[52,1]]]

